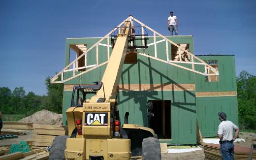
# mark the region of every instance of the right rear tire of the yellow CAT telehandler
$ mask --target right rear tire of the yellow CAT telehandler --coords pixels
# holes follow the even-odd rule
[[[143,139],[142,160],[161,160],[159,139],[153,137]]]

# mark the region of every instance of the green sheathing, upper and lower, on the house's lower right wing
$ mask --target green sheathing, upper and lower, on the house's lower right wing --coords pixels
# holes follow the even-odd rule
[[[219,81],[205,82],[204,76],[195,74],[196,92],[236,91],[234,56],[198,56],[201,60],[217,60]],[[198,66],[197,66],[198,69]],[[203,71],[203,66],[200,68]],[[238,125],[237,96],[196,97],[196,115],[202,136],[217,136],[220,124],[218,112],[225,112],[228,120]]]

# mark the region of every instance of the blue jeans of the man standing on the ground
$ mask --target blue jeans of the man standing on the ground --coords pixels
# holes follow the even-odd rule
[[[223,160],[234,160],[234,144],[233,144],[233,142],[222,143],[221,153],[222,153]]]

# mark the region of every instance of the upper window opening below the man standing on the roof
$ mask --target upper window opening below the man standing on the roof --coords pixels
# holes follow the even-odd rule
[[[181,46],[182,49],[185,49],[186,51],[190,51],[190,45],[189,44],[178,44]],[[180,54],[181,53],[181,56]],[[183,62],[191,62],[190,55],[181,50],[180,48],[176,47],[175,45],[171,45],[171,60],[172,61],[183,61]]]

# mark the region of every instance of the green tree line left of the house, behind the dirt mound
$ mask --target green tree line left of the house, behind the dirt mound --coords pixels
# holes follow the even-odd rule
[[[47,96],[38,96],[33,92],[26,94],[23,87],[16,87],[13,91],[0,87],[0,111],[26,116],[42,109],[62,113],[63,84],[51,84],[50,81],[50,77],[45,79]]]

